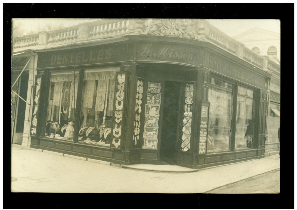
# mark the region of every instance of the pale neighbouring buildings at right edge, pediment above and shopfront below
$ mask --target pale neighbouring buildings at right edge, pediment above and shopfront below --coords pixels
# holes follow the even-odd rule
[[[280,34],[254,28],[233,37],[260,56],[267,56],[267,71],[271,74],[268,90],[267,140],[265,155],[279,152],[277,136],[280,127]]]

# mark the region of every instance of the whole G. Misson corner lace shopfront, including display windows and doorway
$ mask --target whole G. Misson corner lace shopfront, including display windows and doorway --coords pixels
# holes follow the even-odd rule
[[[269,75],[211,43],[127,35],[35,52],[32,148],[190,168],[264,157]]]

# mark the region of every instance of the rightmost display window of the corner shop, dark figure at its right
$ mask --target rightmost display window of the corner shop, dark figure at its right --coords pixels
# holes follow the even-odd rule
[[[253,148],[255,91],[238,86],[235,149]]]

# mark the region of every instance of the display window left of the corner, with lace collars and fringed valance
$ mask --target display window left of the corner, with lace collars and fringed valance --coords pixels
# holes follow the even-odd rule
[[[122,119],[122,111],[113,113],[115,82],[115,71],[85,70],[78,142],[108,147],[112,143],[117,129],[113,129],[113,116],[118,121]],[[124,93],[116,97],[123,100]]]

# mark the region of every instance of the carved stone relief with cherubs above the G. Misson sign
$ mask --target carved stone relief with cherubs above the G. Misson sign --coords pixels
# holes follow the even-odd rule
[[[148,19],[144,23],[143,35],[161,35],[200,40],[194,22],[189,19]]]

